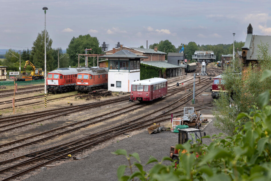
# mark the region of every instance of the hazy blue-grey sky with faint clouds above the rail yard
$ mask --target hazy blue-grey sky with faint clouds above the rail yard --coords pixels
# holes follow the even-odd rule
[[[245,41],[249,23],[255,35],[271,35],[270,0],[0,0],[0,49],[31,49],[46,30],[52,47],[66,49],[72,37],[90,34],[110,49],[146,47],[160,40],[197,44]],[[9,47],[9,46],[15,47]],[[25,48],[26,47],[26,48]],[[91,47],[86,47],[91,48]]]

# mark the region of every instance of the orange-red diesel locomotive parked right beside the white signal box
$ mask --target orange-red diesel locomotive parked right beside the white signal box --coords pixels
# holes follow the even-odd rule
[[[94,89],[107,89],[108,69],[90,69],[77,75],[75,90],[78,92],[89,92]]]

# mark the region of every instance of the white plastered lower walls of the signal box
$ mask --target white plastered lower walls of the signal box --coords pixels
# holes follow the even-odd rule
[[[108,90],[130,92],[131,83],[137,80],[140,80],[140,72],[108,72]],[[121,88],[117,88],[116,81],[121,81]],[[114,87],[111,87],[111,84],[114,84]]]

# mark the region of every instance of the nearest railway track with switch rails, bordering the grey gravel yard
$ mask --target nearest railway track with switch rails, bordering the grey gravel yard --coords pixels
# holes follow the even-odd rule
[[[206,83],[206,85],[201,86],[196,90],[198,92],[197,94],[208,89],[208,87],[210,87],[209,83]],[[200,89],[203,90],[199,91]],[[87,136],[71,140],[63,144],[52,146],[50,148],[38,150],[36,152],[19,156],[17,158],[4,160],[0,162],[0,164],[5,164],[6,168],[2,168],[0,170],[1,173],[0,177],[3,178],[3,180],[10,180],[17,176],[25,174],[31,170],[34,170],[40,166],[54,162],[55,160],[66,158],[68,154],[74,154],[76,152],[83,151],[84,149],[92,148],[96,144],[109,140],[125,132],[141,129],[150,124],[168,120],[168,114],[172,113],[173,110],[181,106],[180,101],[186,99],[188,99],[187,101],[189,101],[191,99],[189,98],[190,96],[191,93],[187,94],[183,98],[178,99],[172,104],[165,106],[161,109],[158,109],[150,114],[146,114],[144,116],[125,122],[123,124],[110,127],[101,132],[89,134]],[[163,115],[164,111],[166,111],[168,114]],[[23,159],[23,161],[18,162],[19,159],[20,160]],[[9,173],[12,173],[12,175],[10,176]]]

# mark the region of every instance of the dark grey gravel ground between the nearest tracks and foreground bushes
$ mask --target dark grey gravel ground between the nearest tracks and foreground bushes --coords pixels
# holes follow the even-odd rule
[[[211,121],[204,129],[206,134],[218,134],[219,131],[213,126]],[[203,133],[202,133],[203,134]],[[111,152],[117,149],[126,149],[128,153],[137,152],[144,165],[150,155],[160,161],[164,156],[169,156],[170,146],[178,142],[177,134],[162,132],[148,134],[146,130],[136,135],[115,141],[113,144],[100,150],[93,151],[88,157],[81,160],[67,161],[54,168],[48,168],[39,174],[30,176],[25,181],[44,181],[44,180],[117,180],[117,168],[119,165],[128,164],[124,156],[116,156]],[[210,139],[203,140],[205,144],[211,142]],[[132,160],[133,162],[134,160]],[[170,164],[170,162],[167,162]],[[152,165],[144,166],[149,170]],[[129,174],[127,172],[127,174]]]

